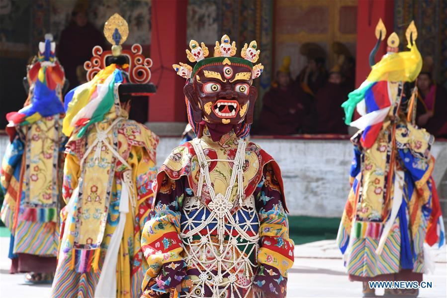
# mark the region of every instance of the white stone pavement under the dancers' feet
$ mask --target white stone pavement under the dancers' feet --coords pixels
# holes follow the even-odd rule
[[[0,238],[0,298],[49,297],[50,286],[28,286],[23,275],[10,275],[7,258],[9,238]],[[431,249],[436,262],[434,274],[424,279],[432,282],[432,289],[421,289],[420,298],[446,298],[446,248]],[[335,240],[298,245],[295,248],[295,263],[289,272],[287,297],[361,297],[361,284],[348,281]],[[378,295],[383,294],[377,291]]]

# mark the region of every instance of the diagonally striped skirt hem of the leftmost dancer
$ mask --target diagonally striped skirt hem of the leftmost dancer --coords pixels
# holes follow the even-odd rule
[[[14,253],[57,256],[59,231],[54,223],[19,220],[14,234]]]

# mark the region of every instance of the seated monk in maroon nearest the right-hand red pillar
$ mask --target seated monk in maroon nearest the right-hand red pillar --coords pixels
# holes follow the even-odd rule
[[[348,127],[343,120],[345,113],[341,107],[348,98],[348,89],[344,82],[342,67],[336,64],[329,72],[328,82],[317,93],[317,133],[348,133]]]

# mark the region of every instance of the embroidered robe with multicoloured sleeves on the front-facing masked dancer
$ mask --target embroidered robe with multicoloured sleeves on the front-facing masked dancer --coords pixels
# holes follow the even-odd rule
[[[141,239],[149,264],[142,297],[174,294],[177,286],[179,297],[285,297],[294,245],[276,162],[247,143],[243,199],[236,198],[237,183],[229,200],[213,200],[206,184],[197,197],[196,140],[174,149],[157,176],[156,199]],[[217,160],[208,163],[209,176],[222,199],[233,168],[226,160],[235,159],[238,142],[244,141],[230,132],[219,142],[209,135],[199,142],[206,159]],[[218,216],[226,218],[220,244]]]

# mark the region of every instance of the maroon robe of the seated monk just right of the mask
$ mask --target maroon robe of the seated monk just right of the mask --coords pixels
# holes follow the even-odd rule
[[[294,109],[295,113],[291,113]],[[291,88],[270,88],[264,95],[263,108],[255,134],[288,135],[298,132],[300,108]]]

